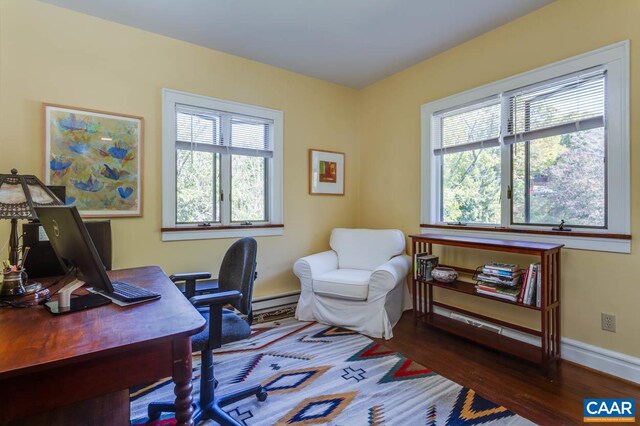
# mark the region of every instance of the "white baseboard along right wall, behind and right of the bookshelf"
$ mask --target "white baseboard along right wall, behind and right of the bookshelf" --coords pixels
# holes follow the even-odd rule
[[[435,306],[434,312],[448,317],[453,311]],[[469,316],[473,317],[472,315]],[[502,334],[504,336],[536,346],[540,346],[541,344],[540,338],[538,337],[508,327],[499,327],[502,328]],[[560,353],[562,359],[566,359],[567,361],[640,384],[640,358],[579,342],[567,337],[561,339]]]

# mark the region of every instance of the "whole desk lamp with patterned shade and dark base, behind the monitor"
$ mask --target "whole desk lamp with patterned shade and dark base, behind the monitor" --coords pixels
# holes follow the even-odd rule
[[[33,175],[19,175],[16,169],[12,169],[10,175],[0,174],[0,219],[11,220],[9,262],[12,265],[17,265],[19,260],[18,219],[37,219],[34,206],[62,204],[64,203],[40,179]],[[12,282],[10,286],[3,285],[0,297],[25,294],[37,291],[37,288],[30,290],[26,291],[23,284],[16,281]]]

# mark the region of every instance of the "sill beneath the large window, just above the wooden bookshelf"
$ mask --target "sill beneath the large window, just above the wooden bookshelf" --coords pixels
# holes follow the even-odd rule
[[[425,232],[437,229],[438,233],[444,235],[464,234],[477,237],[502,238],[509,241],[528,240],[540,243],[564,244],[565,248],[576,250],[631,253],[631,235],[626,234],[430,224],[421,224],[420,228]]]

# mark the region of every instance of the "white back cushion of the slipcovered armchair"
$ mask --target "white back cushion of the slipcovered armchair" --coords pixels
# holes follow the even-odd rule
[[[329,244],[338,254],[338,268],[365,271],[376,269],[405,249],[404,234],[397,229],[336,228]]]

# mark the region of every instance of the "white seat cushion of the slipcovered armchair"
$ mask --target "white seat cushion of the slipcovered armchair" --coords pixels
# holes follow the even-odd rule
[[[334,269],[313,280],[313,292],[349,300],[367,300],[371,271]]]

